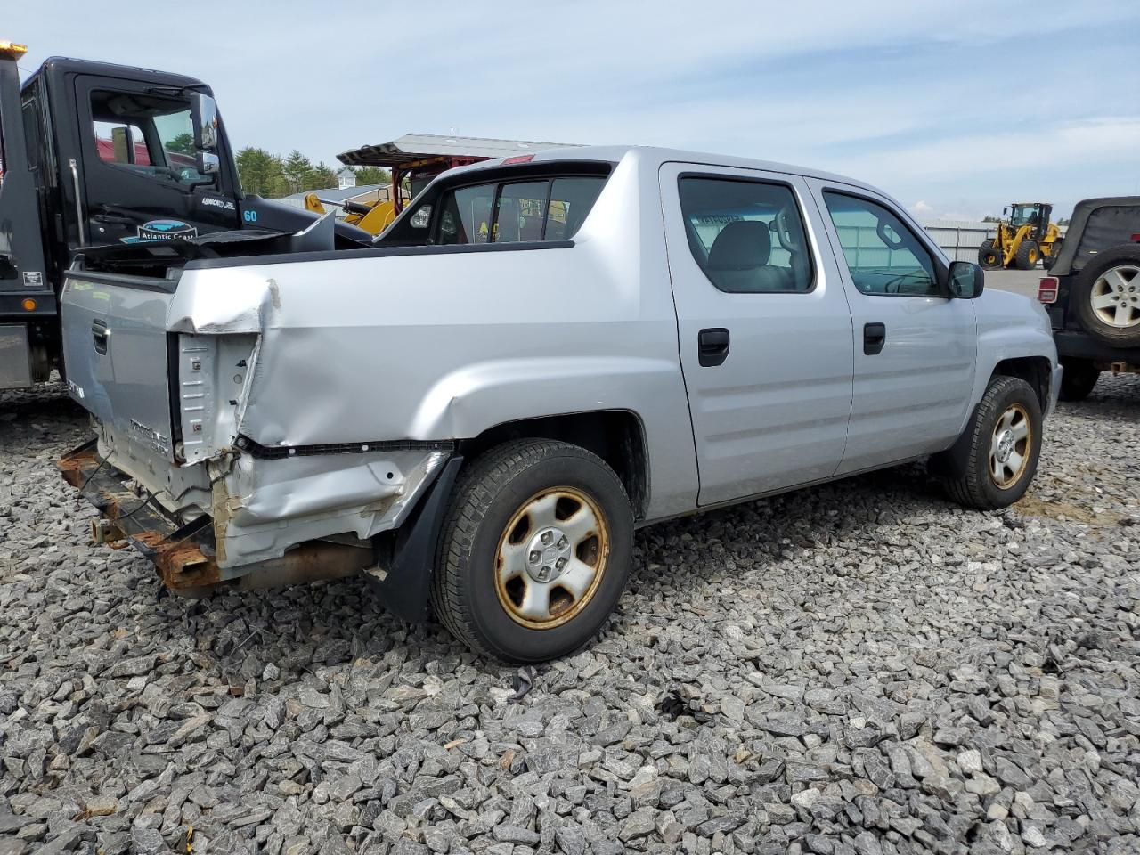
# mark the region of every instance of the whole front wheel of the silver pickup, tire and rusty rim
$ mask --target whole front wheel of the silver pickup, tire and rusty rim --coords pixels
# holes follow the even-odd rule
[[[1041,404],[1018,377],[994,377],[961,441],[962,471],[946,480],[955,502],[992,510],[1017,502],[1029,488],[1041,454]]]

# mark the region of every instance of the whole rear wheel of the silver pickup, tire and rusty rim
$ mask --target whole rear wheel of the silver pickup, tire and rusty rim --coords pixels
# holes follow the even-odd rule
[[[432,604],[477,653],[540,662],[586,644],[613,611],[633,513],[600,457],[554,440],[490,449],[461,475]]]

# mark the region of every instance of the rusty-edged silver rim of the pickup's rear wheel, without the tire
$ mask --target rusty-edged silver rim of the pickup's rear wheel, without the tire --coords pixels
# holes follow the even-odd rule
[[[597,504],[576,487],[552,487],[515,511],[495,554],[495,591],[511,619],[530,629],[572,620],[593,598],[610,557]]]

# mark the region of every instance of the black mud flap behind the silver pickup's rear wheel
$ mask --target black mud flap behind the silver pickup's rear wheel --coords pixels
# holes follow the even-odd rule
[[[443,514],[451,488],[463,465],[463,456],[451,457],[426,496],[400,527],[391,563],[365,573],[384,605],[401,620],[422,624],[431,617],[431,575],[435,571],[435,547],[443,528]]]

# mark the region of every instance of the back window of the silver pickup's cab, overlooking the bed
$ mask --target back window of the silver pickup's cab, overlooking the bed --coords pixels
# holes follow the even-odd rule
[[[438,243],[567,241],[585,221],[604,184],[602,177],[568,176],[456,188],[441,201]]]

